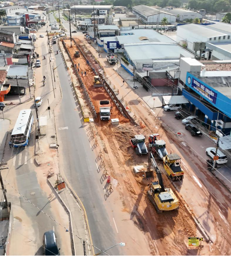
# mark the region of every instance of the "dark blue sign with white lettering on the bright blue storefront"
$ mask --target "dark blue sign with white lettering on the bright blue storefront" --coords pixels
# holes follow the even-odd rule
[[[194,77],[188,76],[188,83],[193,89],[200,92],[206,99],[208,99],[213,104],[217,102],[217,93],[212,89],[208,88],[205,84],[201,83],[200,80],[195,79]]]

